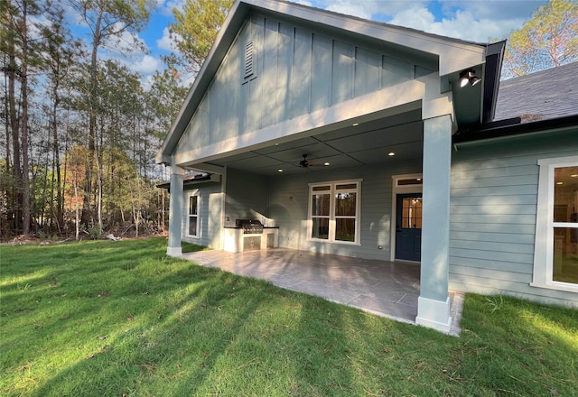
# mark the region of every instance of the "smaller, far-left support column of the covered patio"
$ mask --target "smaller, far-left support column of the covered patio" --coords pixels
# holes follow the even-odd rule
[[[176,165],[171,166],[171,201],[169,207],[169,246],[166,254],[181,256],[182,234],[182,180],[184,170]]]

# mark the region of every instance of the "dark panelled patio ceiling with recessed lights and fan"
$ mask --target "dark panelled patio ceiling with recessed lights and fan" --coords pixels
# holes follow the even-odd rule
[[[266,147],[207,162],[261,175],[286,175],[303,171],[330,171],[381,162],[418,160],[424,151],[424,124],[421,109],[347,125],[323,134],[290,142],[271,142]],[[389,156],[395,152],[395,156]],[[303,168],[303,154],[316,166]],[[329,166],[324,166],[329,162]],[[202,164],[191,168],[202,171]],[[283,172],[279,172],[279,170]]]

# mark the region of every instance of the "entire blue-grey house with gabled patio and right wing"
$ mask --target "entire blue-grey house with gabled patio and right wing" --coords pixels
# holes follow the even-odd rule
[[[239,0],[156,156],[167,254],[420,263],[445,332],[450,290],[578,306],[577,64],[500,83],[504,46]]]

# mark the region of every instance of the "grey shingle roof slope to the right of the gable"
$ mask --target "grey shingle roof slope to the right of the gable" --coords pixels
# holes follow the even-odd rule
[[[495,121],[522,123],[578,115],[578,62],[500,81]]]

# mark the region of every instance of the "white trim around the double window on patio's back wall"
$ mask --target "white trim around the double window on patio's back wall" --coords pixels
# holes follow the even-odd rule
[[[327,182],[314,182],[309,184],[309,204],[307,206],[307,240],[320,242],[325,244],[340,244],[340,245],[361,245],[361,182],[363,180],[331,180]],[[357,188],[355,189],[356,200],[355,200],[355,241],[341,241],[335,239],[335,186],[345,185],[355,183]],[[329,238],[314,238],[312,237],[312,194],[313,188],[320,186],[330,186],[330,208],[329,208]],[[340,190],[341,191],[341,190]],[[353,189],[351,189],[353,191]]]

